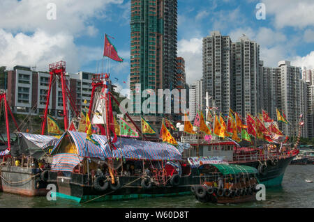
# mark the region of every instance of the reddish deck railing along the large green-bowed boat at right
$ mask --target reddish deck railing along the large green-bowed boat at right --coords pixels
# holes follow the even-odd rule
[[[285,159],[291,157],[294,154],[293,151],[284,152],[244,152],[234,153],[232,162],[250,162],[250,161],[267,161],[273,159]]]

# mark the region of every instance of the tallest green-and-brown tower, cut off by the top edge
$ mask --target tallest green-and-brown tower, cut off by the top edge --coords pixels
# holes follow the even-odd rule
[[[158,89],[174,89],[177,0],[132,0],[130,10],[130,89],[141,93],[135,92],[135,84],[156,93]],[[141,104],[135,103],[135,107]]]

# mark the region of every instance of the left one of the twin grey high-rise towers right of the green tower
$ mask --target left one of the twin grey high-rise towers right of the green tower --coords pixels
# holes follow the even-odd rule
[[[203,38],[203,104],[206,92],[218,111],[227,115],[232,108],[232,42],[229,36],[212,31]],[[213,102],[211,100],[211,102]],[[212,106],[212,103],[209,104]]]

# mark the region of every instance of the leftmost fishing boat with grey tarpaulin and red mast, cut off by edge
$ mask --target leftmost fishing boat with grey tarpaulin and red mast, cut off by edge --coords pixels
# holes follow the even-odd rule
[[[6,138],[0,136],[3,143],[0,148],[0,157],[3,157],[0,163],[1,191],[23,196],[45,196],[47,181],[43,171],[49,168],[48,149],[53,147],[58,139],[54,136],[20,132],[10,134],[8,113],[17,129],[19,127],[6,101],[6,94],[1,94],[0,99],[6,115],[7,132]],[[14,139],[12,139],[13,135]]]

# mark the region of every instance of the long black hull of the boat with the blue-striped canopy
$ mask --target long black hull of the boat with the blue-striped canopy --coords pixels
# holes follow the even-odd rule
[[[195,174],[194,174],[195,175]],[[72,173],[70,177],[58,176],[57,172],[50,171],[48,182],[55,184],[57,198],[66,198],[78,203],[92,200],[94,202],[105,200],[129,200],[137,198],[156,198],[162,196],[190,195],[190,187],[200,184],[200,177],[183,176],[178,186],[173,187],[170,181],[165,186],[153,186],[151,189],[141,187],[141,177],[121,176],[118,177],[121,189],[114,191],[110,188],[105,191],[96,191],[92,186],[88,175]]]

